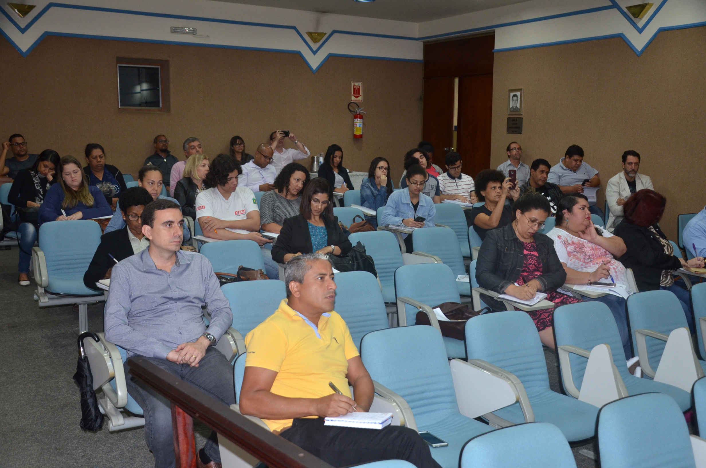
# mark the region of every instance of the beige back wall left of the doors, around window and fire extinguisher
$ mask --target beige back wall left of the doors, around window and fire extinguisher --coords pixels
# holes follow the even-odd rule
[[[171,112],[118,110],[116,57],[169,60]],[[312,74],[295,54],[71,37],[47,37],[27,58],[0,40],[0,63],[0,139],[19,132],[32,153],[80,157],[97,142],[126,173],[136,174],[160,133],[179,158],[189,136],[213,157],[235,134],[254,153],[280,128],[313,154],[340,144],[349,170],[367,172],[385,156],[398,180],[405,150],[421,138],[420,63],[331,57]],[[364,83],[368,112],[358,141],[346,108],[351,81]]]

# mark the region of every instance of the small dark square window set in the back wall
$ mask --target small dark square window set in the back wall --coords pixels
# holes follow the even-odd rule
[[[118,107],[169,112],[169,62],[118,57]]]

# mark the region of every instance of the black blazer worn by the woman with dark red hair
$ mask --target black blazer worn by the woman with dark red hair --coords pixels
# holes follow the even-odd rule
[[[666,235],[662,233],[659,226],[655,226],[655,230],[666,239]],[[662,270],[681,268],[678,257],[666,255],[662,243],[651,230],[623,221],[618,224],[614,234],[623,238],[628,247],[628,251],[618,260],[626,268],[633,269],[635,282],[638,283],[640,291],[659,289]]]

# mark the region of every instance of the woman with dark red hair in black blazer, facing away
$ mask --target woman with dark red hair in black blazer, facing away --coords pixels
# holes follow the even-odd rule
[[[654,190],[642,189],[630,196],[623,206],[623,222],[615,235],[625,241],[628,251],[618,258],[626,268],[632,268],[640,291],[664,289],[681,302],[691,332],[694,333],[689,291],[674,283],[674,270],[682,267],[702,268],[704,259],[696,257],[686,262],[674,255],[674,246],[659,228],[666,199]]]

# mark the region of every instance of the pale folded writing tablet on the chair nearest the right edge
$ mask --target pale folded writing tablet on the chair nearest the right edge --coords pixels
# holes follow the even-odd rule
[[[635,330],[636,333],[647,331]],[[694,382],[703,376],[704,370],[696,358],[689,329],[679,327],[672,330],[662,351],[657,372],[654,373],[654,381],[674,385],[690,393]]]

